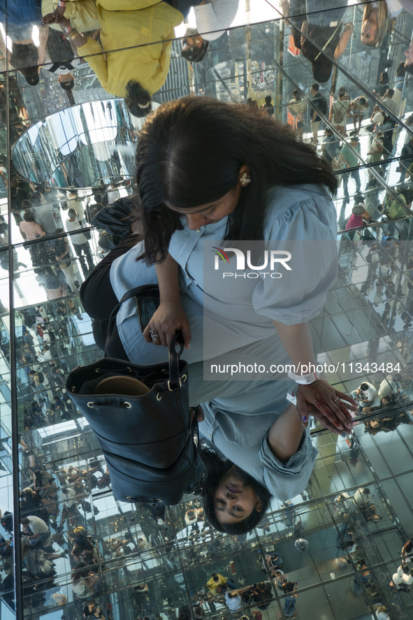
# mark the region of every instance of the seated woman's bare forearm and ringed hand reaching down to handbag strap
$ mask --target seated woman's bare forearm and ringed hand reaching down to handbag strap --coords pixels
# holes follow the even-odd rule
[[[156,269],[161,303],[147,324],[143,337],[147,343],[168,347],[175,332],[180,329],[184,337],[185,348],[189,349],[191,329],[187,315],[182,310],[179,289],[180,266],[168,253],[164,262],[156,264]],[[151,330],[158,338],[152,338]]]

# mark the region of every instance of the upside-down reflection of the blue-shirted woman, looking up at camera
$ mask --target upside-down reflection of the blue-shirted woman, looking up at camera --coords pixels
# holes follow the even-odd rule
[[[233,446],[233,440],[224,428],[215,431],[213,443],[208,440],[210,436],[208,431],[211,430],[208,411],[205,419],[201,415],[200,425],[203,441],[210,445],[210,449],[203,449],[201,453],[208,473],[203,489],[205,515],[215,529],[234,535],[252,530],[264,517],[271,498],[271,493],[266,487],[270,487],[275,495],[296,494],[296,484],[300,484],[298,481],[302,479],[304,470],[308,471],[308,466],[311,467],[312,459],[317,452],[308,445],[305,456],[301,451],[302,454],[297,457],[298,447],[303,443],[303,427],[294,405],[289,405],[277,417],[269,431],[268,418],[265,420],[261,416],[252,416],[252,419],[248,420],[247,416],[238,417],[244,424],[250,424],[252,421],[254,433],[249,428],[249,439],[245,442],[239,440],[242,445],[237,447]],[[233,417],[233,421],[235,420],[236,417]],[[241,428],[238,431],[241,435]],[[258,435],[261,435],[259,453],[256,447],[252,446]],[[218,447],[221,451],[225,449],[225,456],[228,456],[229,460],[219,459],[213,450],[214,447]],[[234,460],[240,462],[241,453],[245,459],[243,468],[231,461],[233,456]],[[277,462],[278,468],[275,466]],[[293,462],[294,472],[291,470]],[[293,474],[291,480],[284,476],[283,467],[286,473],[290,471]]]

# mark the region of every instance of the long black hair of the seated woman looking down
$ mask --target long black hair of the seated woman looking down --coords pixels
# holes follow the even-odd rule
[[[136,182],[143,206],[145,258],[164,260],[180,214],[221,199],[238,185],[242,164],[251,183],[229,215],[225,240],[262,240],[267,192],[275,185],[324,184],[337,180],[314,147],[250,106],[208,97],[184,97],[160,106],[140,132]]]

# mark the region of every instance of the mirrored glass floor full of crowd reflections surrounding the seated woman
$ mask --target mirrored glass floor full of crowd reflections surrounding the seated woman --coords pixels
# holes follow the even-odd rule
[[[0,6],[1,619],[413,618],[413,5],[59,4]],[[314,352],[374,396],[352,436],[312,422],[307,488],[236,536],[195,495],[116,501],[66,391],[103,356],[80,287],[131,231],[145,113],[183,96],[257,108],[331,164],[339,273]]]

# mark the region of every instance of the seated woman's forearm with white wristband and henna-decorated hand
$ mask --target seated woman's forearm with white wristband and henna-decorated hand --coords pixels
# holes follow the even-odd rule
[[[310,368],[317,366],[312,346],[310,327],[307,323],[296,325],[284,325],[272,319],[273,325],[277,330],[278,336],[284,349],[286,350],[291,362],[295,366],[295,374],[303,375],[314,372]],[[303,373],[302,365],[307,366]],[[317,418],[323,426],[333,431],[337,435],[343,432],[352,432],[352,416],[347,410],[356,411],[356,401],[343,392],[336,390],[324,377],[307,384],[298,384],[297,407],[304,426],[308,424],[310,415]],[[350,403],[347,407],[339,400],[342,399]]]

